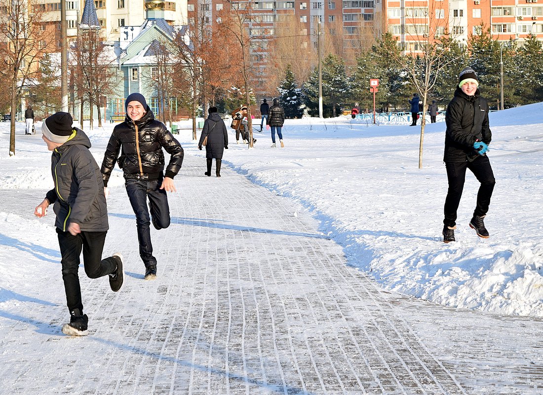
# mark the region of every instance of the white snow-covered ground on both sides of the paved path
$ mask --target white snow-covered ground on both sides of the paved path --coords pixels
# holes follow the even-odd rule
[[[419,126],[377,126],[344,117],[287,120],[285,148],[270,148],[269,131],[264,131],[255,133],[258,141],[248,150],[229,132],[223,166],[300,202],[321,222],[321,230],[343,246],[349,264],[387,289],[452,307],[543,316],[541,113],[543,103],[490,114],[488,155],[496,188],[485,218],[489,239],[478,238],[468,225],[478,189],[468,172],[457,241],[441,241],[447,192],[444,122],[426,126],[422,169]],[[98,163],[113,126],[87,131]],[[17,124],[17,130],[22,128]],[[8,130],[8,123],[0,123],[0,188],[52,187],[50,153],[39,136],[18,133],[16,156],[9,157]],[[205,155],[192,132],[182,129],[178,138],[186,154]],[[122,183],[116,171],[110,186]],[[30,211],[41,201],[41,192],[36,195]],[[252,203],[244,201],[248,209]],[[17,213],[0,209],[2,233],[12,234],[14,243],[24,239],[17,220]],[[35,228],[32,239],[57,250],[54,233],[45,230],[50,225],[36,226],[43,229]],[[33,253],[40,256],[39,250]],[[24,264],[0,245],[0,300],[11,292],[10,276],[17,276]]]

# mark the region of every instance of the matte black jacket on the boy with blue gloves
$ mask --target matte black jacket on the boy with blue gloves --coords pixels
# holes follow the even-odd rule
[[[444,162],[467,162],[479,157],[473,149],[476,140],[490,144],[492,133],[488,124],[488,103],[479,95],[468,96],[460,88],[447,106],[445,115]]]

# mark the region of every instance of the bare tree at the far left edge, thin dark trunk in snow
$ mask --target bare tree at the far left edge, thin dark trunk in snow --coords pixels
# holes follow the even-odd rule
[[[11,124],[9,155],[15,155],[15,115],[18,98],[38,68],[44,35],[44,4],[35,0],[0,0],[0,54],[9,80]]]

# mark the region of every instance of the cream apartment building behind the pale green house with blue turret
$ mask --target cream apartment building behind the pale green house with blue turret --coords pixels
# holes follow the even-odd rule
[[[171,25],[186,24],[187,2],[186,0],[67,0],[66,23],[67,36],[71,39],[77,36],[81,17],[85,4],[93,2],[98,17],[98,23],[102,28],[104,37],[108,41],[119,39],[119,34],[124,26],[141,26],[146,18],[146,9],[160,8],[161,15]],[[58,0],[45,0],[40,7],[46,11],[43,31],[53,34],[56,46],[60,46],[60,2]],[[88,7],[87,7],[88,8]],[[149,17],[153,17],[151,10]]]

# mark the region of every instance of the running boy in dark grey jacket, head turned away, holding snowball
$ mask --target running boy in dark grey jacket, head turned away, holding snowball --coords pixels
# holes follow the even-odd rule
[[[62,280],[66,290],[70,323],[64,324],[66,335],[87,334],[89,318],[83,314],[78,269],[83,250],[85,272],[90,278],[109,275],[112,291],[123,285],[121,254],[102,259],[104,241],[108,233],[108,208],[102,189],[102,174],[89,148],[91,142],[83,130],[72,128],[72,116],[57,112],[42,124],[43,141],[53,151],[51,171],[55,188],[36,206],[38,217],[47,214],[54,203],[56,233],[62,255]]]

